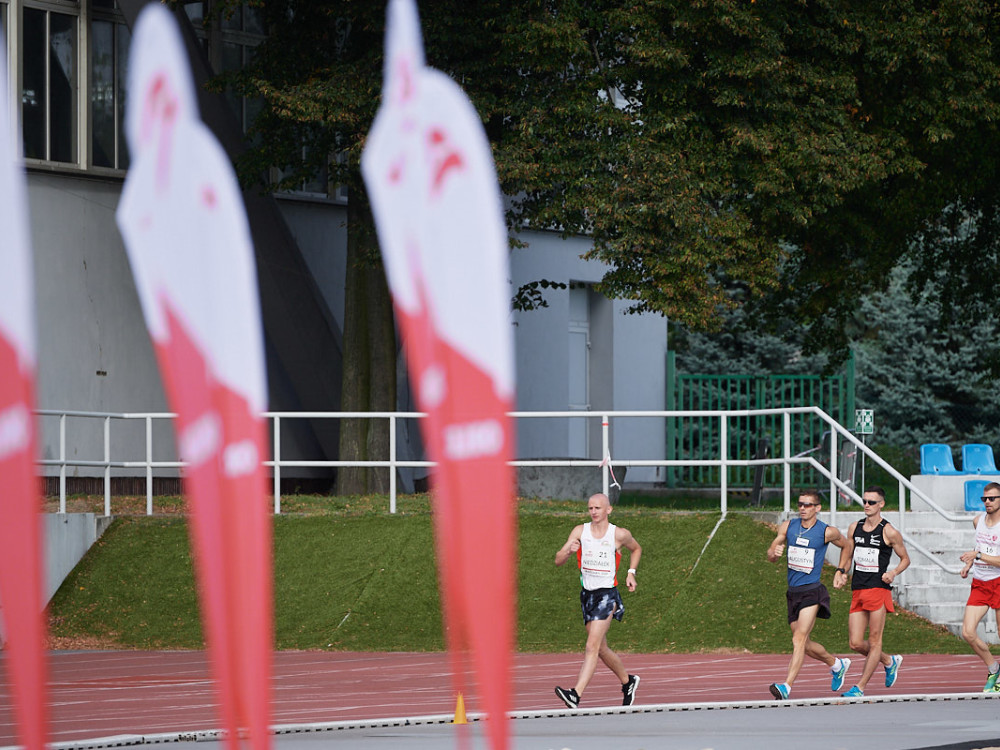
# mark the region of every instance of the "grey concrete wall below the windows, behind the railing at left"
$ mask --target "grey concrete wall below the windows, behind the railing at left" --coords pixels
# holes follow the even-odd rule
[[[40,409],[166,411],[153,347],[114,221],[121,182],[43,172],[28,175],[35,257]],[[67,423],[70,457],[100,460],[103,425]],[[142,460],[145,427],[112,425],[112,453]],[[58,420],[40,423],[43,458],[58,456]],[[155,460],[176,460],[173,433],[157,425]],[[49,474],[55,474],[50,470]],[[75,468],[71,476],[99,476]],[[128,471],[115,471],[116,475]],[[134,473],[134,472],[132,472]]]

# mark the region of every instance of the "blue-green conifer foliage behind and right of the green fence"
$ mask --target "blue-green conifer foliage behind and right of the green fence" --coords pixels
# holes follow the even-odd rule
[[[944,255],[945,247],[927,248]],[[942,311],[951,297],[943,271],[918,277],[904,260],[884,290],[865,295],[852,318],[857,331],[855,395],[858,408],[875,410],[874,443],[916,455],[921,443],[992,443],[1000,421],[1000,324],[980,316],[952,321]],[[816,374],[822,355],[804,356],[805,329],[781,335],[748,326],[743,310],[723,316],[721,331],[680,329],[671,335],[678,369],[686,373]]]

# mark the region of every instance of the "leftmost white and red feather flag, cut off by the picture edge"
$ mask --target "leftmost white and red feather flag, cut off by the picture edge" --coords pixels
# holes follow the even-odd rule
[[[35,474],[34,274],[17,119],[0,38],[0,614],[18,736],[45,747],[45,623]]]

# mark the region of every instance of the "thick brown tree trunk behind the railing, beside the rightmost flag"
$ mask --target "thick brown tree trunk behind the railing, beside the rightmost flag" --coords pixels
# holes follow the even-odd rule
[[[396,329],[385,272],[378,263],[374,222],[353,191],[347,209],[347,278],[344,296],[342,411],[396,410]],[[389,459],[387,419],[345,419],[340,460]],[[389,470],[365,467],[337,472],[338,495],[389,491]]]

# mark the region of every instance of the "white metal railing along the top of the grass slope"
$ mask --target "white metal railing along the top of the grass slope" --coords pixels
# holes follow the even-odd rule
[[[44,418],[58,418],[59,420],[59,455],[54,459],[43,459],[38,463],[46,467],[58,467],[59,469],[59,512],[66,512],[66,470],[67,467],[91,467],[102,468],[104,470],[104,512],[111,515],[111,470],[112,469],[142,469],[146,479],[146,513],[153,513],[153,472],[160,469],[182,469],[182,461],[153,460],[153,423],[157,420],[172,420],[176,414],[169,412],[158,413],[108,413],[108,412],[87,412],[71,410],[43,409],[37,412]],[[780,415],[782,417],[782,455],[762,459],[737,459],[730,458],[728,451],[728,429],[729,420],[734,418],[748,418],[768,415]],[[851,501],[860,502],[857,492],[845,482],[838,478],[837,459],[838,451],[830,451],[830,465],[824,466],[813,458],[806,450],[800,453],[793,453],[792,445],[792,418],[796,415],[812,417],[825,423],[831,436],[839,436],[831,441],[831,446],[839,445],[839,439],[849,441],[854,447],[861,451],[868,459],[874,461],[882,467],[890,476],[898,482],[899,486],[899,510],[900,510],[900,531],[908,545],[924,554],[949,573],[958,573],[959,568],[949,567],[940,562],[930,551],[923,548],[918,542],[906,533],[906,498],[907,492],[910,497],[919,497],[927,505],[949,521],[964,521],[969,518],[968,514],[951,513],[943,509],[924,492],[915,487],[907,477],[900,474],[895,468],[889,465],[878,454],[872,451],[865,443],[830,415],[819,407],[804,406],[785,409],[740,409],[740,410],[709,410],[709,411],[516,411],[510,412],[510,417],[516,420],[534,418],[561,418],[561,419],[593,419],[600,420],[601,444],[603,455],[594,459],[518,459],[512,461],[513,466],[518,467],[595,467],[602,470],[602,487],[605,493],[610,488],[609,472],[614,467],[719,467],[720,487],[719,487],[719,507],[723,514],[728,509],[727,468],[734,466],[771,466],[780,465],[783,467],[783,509],[787,514],[791,509],[792,492],[792,466],[796,464],[806,464],[815,469],[821,476],[829,482],[830,488],[830,515],[834,525],[837,522],[837,498],[847,497]],[[281,513],[281,473],[285,468],[341,468],[341,467],[370,467],[389,469],[389,511],[396,512],[396,470],[401,468],[429,468],[434,463],[426,460],[403,460],[397,458],[397,433],[399,420],[401,419],[422,419],[427,415],[423,412],[289,412],[273,411],[265,412],[263,415],[271,422],[271,437],[273,456],[271,460],[264,461],[264,465],[272,470],[273,492],[274,492],[274,512]],[[69,457],[66,447],[66,420],[67,419],[88,419],[101,420],[103,422],[103,456],[99,459],[80,459]],[[610,421],[615,418],[651,418],[651,419],[705,419],[716,418],[719,420],[719,456],[716,459],[629,459],[614,458],[610,454]],[[389,422],[389,455],[385,460],[368,461],[320,461],[320,460],[292,460],[284,459],[281,455],[281,427],[284,422],[293,419],[386,419]],[[144,458],[142,460],[115,460],[111,456],[111,425],[118,421],[141,420],[145,424],[145,445]],[[801,446],[800,446],[801,447]],[[812,448],[813,446],[809,446]]]

